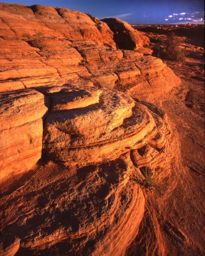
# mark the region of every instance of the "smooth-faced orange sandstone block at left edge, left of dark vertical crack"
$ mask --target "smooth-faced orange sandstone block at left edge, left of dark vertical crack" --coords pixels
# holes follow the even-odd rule
[[[1,93],[1,181],[28,171],[42,157],[42,117],[46,111],[43,94],[35,90]]]

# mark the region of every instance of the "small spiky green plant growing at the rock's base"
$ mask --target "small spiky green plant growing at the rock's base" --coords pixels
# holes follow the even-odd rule
[[[162,167],[158,166],[155,170],[162,170]],[[132,179],[145,189],[155,189],[160,193],[165,192],[166,187],[156,180],[155,170],[151,170],[151,168],[147,166],[142,166],[133,173]]]

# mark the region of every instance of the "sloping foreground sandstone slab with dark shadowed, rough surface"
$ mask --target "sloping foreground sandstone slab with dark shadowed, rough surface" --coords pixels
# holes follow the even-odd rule
[[[126,158],[78,170],[49,164],[4,196],[1,255],[124,255],[144,214]]]

